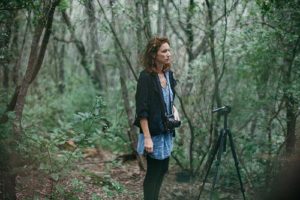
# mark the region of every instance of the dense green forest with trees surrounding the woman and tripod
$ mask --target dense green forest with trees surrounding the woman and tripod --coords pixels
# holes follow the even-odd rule
[[[133,157],[128,173],[145,169],[135,153],[134,94],[153,36],[170,39],[182,119],[171,159],[176,179],[163,199],[197,199],[223,126],[211,111],[223,105],[232,107],[228,126],[248,199],[295,160],[298,0],[1,0],[0,28],[2,199],[141,197],[141,185],[130,191],[109,168]],[[108,170],[78,168],[88,154],[110,155]],[[214,172],[215,165],[207,197]],[[24,189],[29,175],[46,192]],[[87,194],[91,184],[102,193]],[[212,195],[242,199],[230,151]]]

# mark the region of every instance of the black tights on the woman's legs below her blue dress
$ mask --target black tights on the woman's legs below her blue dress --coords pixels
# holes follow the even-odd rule
[[[159,190],[168,171],[169,158],[157,160],[147,155],[147,173],[144,179],[144,200],[158,200]]]

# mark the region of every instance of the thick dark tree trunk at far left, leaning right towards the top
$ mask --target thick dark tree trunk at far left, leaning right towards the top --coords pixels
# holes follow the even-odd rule
[[[37,26],[35,28],[35,34],[33,37],[32,45],[31,45],[31,52],[28,61],[27,70],[25,76],[23,78],[22,84],[16,87],[15,94],[8,106],[8,110],[13,108],[15,111],[15,119],[13,124],[13,135],[11,136],[12,139],[5,145],[1,144],[1,179],[3,187],[1,187],[1,195],[3,199],[16,199],[16,173],[14,172],[14,168],[18,165],[18,161],[21,160],[18,158],[18,155],[15,152],[15,141],[21,135],[21,119],[22,119],[22,112],[25,104],[25,97],[27,94],[27,90],[29,85],[35,79],[40,67],[42,65],[42,61],[45,55],[46,47],[49,41],[53,15],[56,6],[58,5],[59,1],[56,1],[52,4],[48,5],[46,8],[49,12],[45,18],[40,18],[38,20]],[[46,23],[44,23],[46,21]],[[41,43],[41,48],[38,48],[40,38],[42,32],[44,31],[43,40]],[[7,121],[7,120],[6,120]],[[2,143],[3,141],[1,141]]]

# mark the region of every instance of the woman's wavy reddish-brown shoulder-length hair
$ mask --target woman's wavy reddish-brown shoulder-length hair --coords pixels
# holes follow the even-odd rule
[[[144,54],[142,56],[142,64],[148,72],[153,72],[155,68],[155,57],[162,44],[168,43],[170,45],[169,39],[167,37],[153,37],[148,41]],[[169,69],[171,66],[164,65],[163,71]]]

